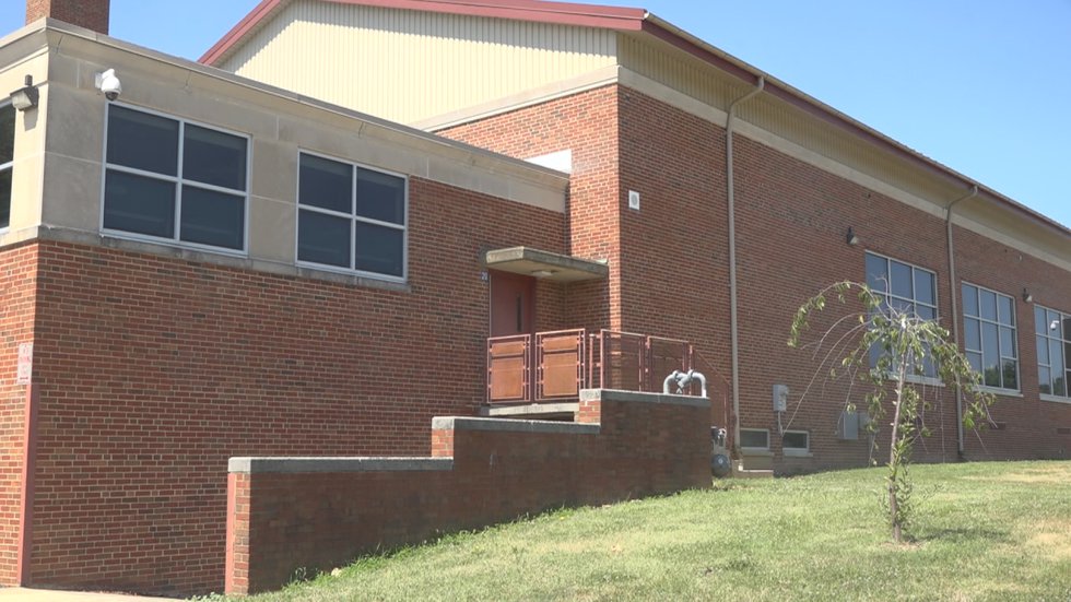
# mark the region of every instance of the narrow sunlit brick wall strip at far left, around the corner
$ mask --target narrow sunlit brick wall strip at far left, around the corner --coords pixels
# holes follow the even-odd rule
[[[37,246],[0,249],[0,585],[19,581],[26,386],[15,385],[19,344],[34,340]]]

